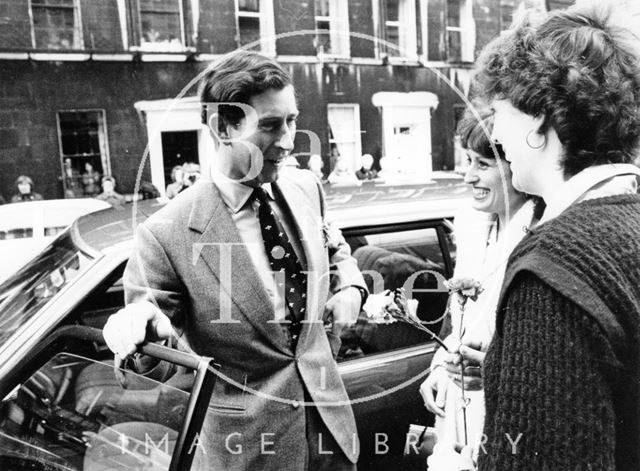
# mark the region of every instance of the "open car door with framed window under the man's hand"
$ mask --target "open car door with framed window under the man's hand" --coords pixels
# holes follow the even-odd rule
[[[210,404],[214,364],[160,347],[143,348],[144,375],[114,369],[101,337],[62,327],[20,366],[0,402],[3,469],[205,469],[213,414],[239,413]]]

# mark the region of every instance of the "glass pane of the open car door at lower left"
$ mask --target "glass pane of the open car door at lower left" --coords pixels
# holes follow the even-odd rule
[[[0,404],[2,468],[168,469],[189,394],[118,372],[80,355],[53,356]]]

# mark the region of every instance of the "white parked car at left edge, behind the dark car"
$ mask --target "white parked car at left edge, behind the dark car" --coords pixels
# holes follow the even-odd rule
[[[108,207],[105,201],[90,198],[0,206],[0,281],[38,254],[75,219]]]

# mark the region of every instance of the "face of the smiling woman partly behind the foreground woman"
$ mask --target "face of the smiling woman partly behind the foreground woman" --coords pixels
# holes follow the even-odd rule
[[[464,181],[473,188],[473,207],[485,213],[504,217],[507,207],[518,207],[524,196],[511,184],[511,169],[502,159],[490,159],[471,149],[467,150],[469,170]],[[503,183],[504,182],[504,183]]]

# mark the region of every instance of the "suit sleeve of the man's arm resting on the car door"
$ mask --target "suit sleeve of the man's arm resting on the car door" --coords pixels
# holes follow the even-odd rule
[[[134,250],[124,272],[125,302],[149,301],[180,325],[185,310],[185,287],[167,253],[147,223],[138,225]]]

